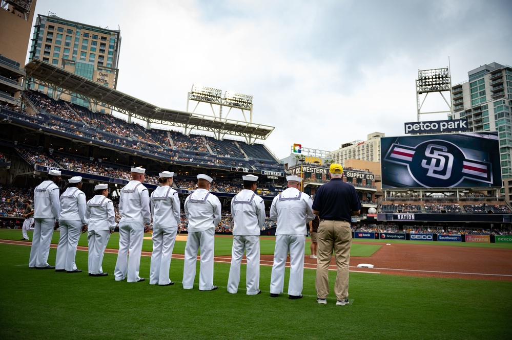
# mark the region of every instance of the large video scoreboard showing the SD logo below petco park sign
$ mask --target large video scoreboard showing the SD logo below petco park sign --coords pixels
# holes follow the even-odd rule
[[[382,188],[501,187],[497,132],[383,137]]]

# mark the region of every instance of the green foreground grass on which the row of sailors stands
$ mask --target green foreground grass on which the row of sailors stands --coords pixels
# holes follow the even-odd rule
[[[173,259],[173,286],[115,282],[110,275],[29,269],[30,247],[0,244],[1,339],[510,339],[512,282],[351,273],[350,304],[315,301],[315,270],[304,271],[304,298],[270,298],[271,267],[261,266],[262,294],[226,291],[229,264],[215,263],[218,290],[183,290],[183,261]],[[54,263],[55,250],[49,262]],[[87,252],[78,251],[87,269]],[[142,277],[149,276],[142,257]],[[286,280],[289,269],[286,269]],[[334,272],[330,273],[331,287]],[[285,291],[288,281],[285,281]]]

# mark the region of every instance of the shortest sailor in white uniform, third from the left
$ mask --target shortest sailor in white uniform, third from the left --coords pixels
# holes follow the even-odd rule
[[[107,248],[110,234],[115,229],[114,203],[108,199],[107,184],[98,184],[94,187],[94,197],[87,202],[87,243],[89,244],[88,269],[89,276],[107,276],[104,273],[103,253]]]

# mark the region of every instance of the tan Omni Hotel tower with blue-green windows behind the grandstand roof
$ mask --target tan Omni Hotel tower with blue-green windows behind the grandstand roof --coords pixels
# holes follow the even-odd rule
[[[119,30],[81,24],[59,18],[53,13],[39,14],[34,26],[29,60],[43,60],[110,88],[116,88],[120,44]],[[54,99],[64,99],[96,111],[108,111],[105,107],[95,109],[88,98],[62,93],[59,88],[32,82],[29,87]],[[103,106],[101,103],[99,105]]]

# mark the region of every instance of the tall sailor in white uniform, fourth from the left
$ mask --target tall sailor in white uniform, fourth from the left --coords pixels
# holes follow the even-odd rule
[[[142,185],[146,169],[132,168],[132,180],[121,189],[119,197],[119,253],[115,264],[116,281],[140,282],[140,253],[144,233],[151,227],[148,189]],[[130,256],[128,256],[130,251]],[[128,264],[128,267],[127,267]],[[128,276],[128,277],[127,277]]]

